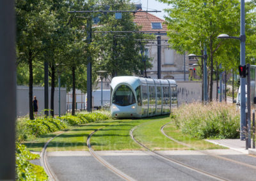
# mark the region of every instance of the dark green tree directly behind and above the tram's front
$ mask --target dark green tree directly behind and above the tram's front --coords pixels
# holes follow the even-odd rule
[[[134,10],[129,1],[100,1],[99,10]],[[96,15],[99,16],[99,15]],[[99,16],[100,22],[97,31],[139,31],[133,22],[132,13],[122,13],[122,19],[116,19],[115,13],[106,13]],[[141,44],[144,48],[146,38],[150,35],[141,33],[94,33],[93,41],[97,42],[97,57],[93,64],[96,70],[106,70],[112,78],[116,75],[139,75],[144,69],[140,57]],[[147,68],[152,65],[147,62]]]

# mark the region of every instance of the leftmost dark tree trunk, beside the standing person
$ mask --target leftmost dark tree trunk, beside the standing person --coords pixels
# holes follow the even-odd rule
[[[34,119],[33,114],[33,64],[32,64],[32,52],[29,50],[28,64],[29,64],[29,119]]]

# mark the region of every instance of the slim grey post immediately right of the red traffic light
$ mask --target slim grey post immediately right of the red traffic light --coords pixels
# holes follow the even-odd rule
[[[250,64],[247,64],[247,134],[248,136],[248,148],[251,148],[251,74],[250,74]]]

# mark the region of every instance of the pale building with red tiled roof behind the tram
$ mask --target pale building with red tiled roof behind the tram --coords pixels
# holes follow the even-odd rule
[[[167,26],[164,20],[147,12],[134,13],[134,23],[141,26],[141,31],[161,36],[161,78],[174,78],[177,81],[189,79],[189,59],[186,54],[178,54],[168,45]],[[152,69],[147,69],[147,76],[157,78],[157,40],[150,41],[145,48],[148,49],[148,57],[152,58]]]

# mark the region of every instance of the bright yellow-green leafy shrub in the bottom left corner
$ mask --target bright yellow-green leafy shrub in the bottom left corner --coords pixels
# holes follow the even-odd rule
[[[39,155],[31,154],[25,145],[16,143],[16,180],[48,180],[42,166],[30,163],[28,160],[39,159]]]

